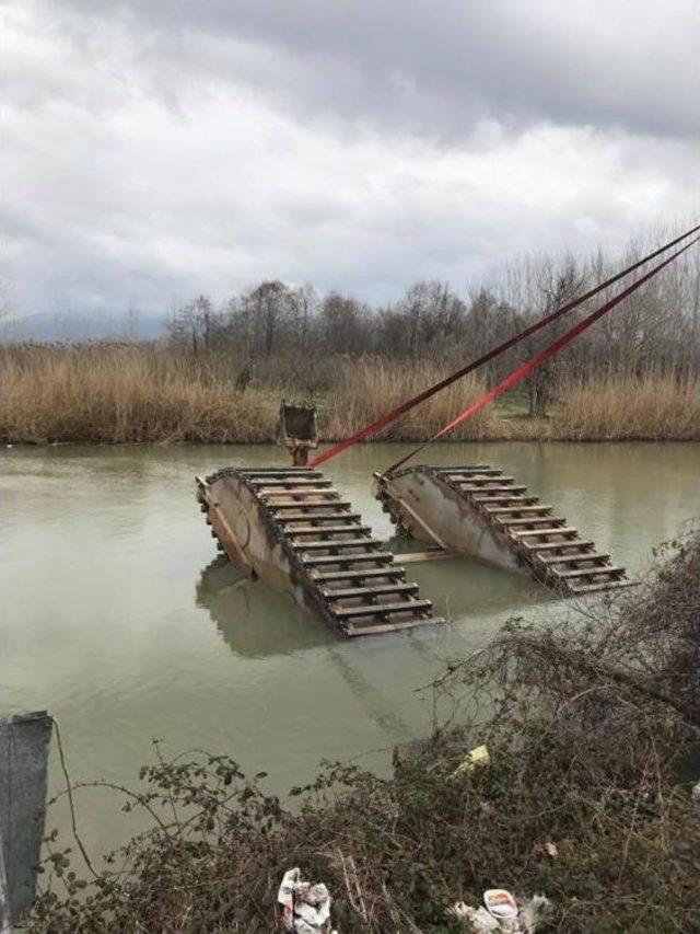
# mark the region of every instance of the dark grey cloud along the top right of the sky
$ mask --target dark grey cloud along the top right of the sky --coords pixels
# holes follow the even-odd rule
[[[74,3],[94,22],[94,0]],[[205,70],[235,73],[240,43],[253,44],[260,68],[245,56],[248,80],[315,115],[445,140],[483,117],[699,129],[695,0],[138,0],[118,9],[155,45],[215,41],[218,61],[200,61]]]

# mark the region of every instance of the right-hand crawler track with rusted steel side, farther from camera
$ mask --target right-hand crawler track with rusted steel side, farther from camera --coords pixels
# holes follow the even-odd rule
[[[518,570],[560,593],[630,585],[625,568],[499,468],[407,468],[377,476],[376,496],[418,541]]]

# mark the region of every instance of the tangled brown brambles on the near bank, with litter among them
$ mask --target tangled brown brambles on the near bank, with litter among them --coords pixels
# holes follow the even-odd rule
[[[224,757],[159,758],[126,805],[153,827],[106,870],[81,878],[49,835],[30,931],[267,932],[295,865],[346,933],[464,930],[446,908],[494,885],[545,892],[542,931],[697,930],[699,620],[692,532],[583,623],[513,620],[448,664],[427,689],[441,718],[392,777],[331,764],[292,808]]]

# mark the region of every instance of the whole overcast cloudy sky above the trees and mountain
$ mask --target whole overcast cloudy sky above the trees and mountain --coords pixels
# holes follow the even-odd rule
[[[0,2],[18,311],[371,300],[696,215],[698,0]]]

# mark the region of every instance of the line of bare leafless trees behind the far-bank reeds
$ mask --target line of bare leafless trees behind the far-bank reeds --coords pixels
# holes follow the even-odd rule
[[[666,239],[664,237],[664,239]],[[653,245],[653,244],[652,244]],[[338,355],[422,358],[457,366],[477,357],[544,314],[608,278],[649,252],[630,244],[619,265],[602,252],[524,257],[493,281],[460,291],[447,282],[419,281],[394,302],[370,304],[350,295],[320,295],[312,285],[270,279],[215,304],[200,295],[176,308],[170,341],[183,351],[229,360],[242,384],[276,368],[323,371]],[[626,280],[623,285],[627,285]],[[623,287],[618,285],[609,296]],[[494,360],[485,377],[500,379],[513,366],[571,326],[581,310]],[[689,251],[642,286],[609,315],[529,379],[530,412],[546,407],[562,378],[604,372],[684,374],[700,364],[700,251]]]

